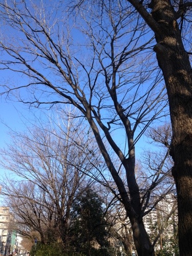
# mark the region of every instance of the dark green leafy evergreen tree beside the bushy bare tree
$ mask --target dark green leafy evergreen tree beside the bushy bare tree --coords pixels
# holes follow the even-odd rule
[[[108,225],[101,198],[87,187],[79,192],[73,205],[73,248],[86,255],[110,255]]]

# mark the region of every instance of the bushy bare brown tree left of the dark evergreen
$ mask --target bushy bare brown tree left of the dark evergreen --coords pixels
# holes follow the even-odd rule
[[[72,204],[90,180],[85,174],[99,164],[99,154],[80,125],[75,132],[77,121],[49,121],[44,117],[45,123],[40,120],[28,132],[12,133],[11,144],[1,152],[2,166],[12,172],[1,182],[2,194],[20,234],[38,232],[42,244],[60,241],[67,247]]]

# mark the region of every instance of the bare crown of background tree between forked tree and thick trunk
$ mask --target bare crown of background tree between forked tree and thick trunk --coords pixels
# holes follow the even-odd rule
[[[172,141],[170,124],[150,127],[146,132],[152,149],[144,151],[140,159],[138,180],[142,184],[146,201],[153,197],[164,197],[167,191],[175,193],[174,179],[171,175],[173,160],[169,156]],[[153,191],[153,186],[155,190]],[[151,190],[152,189],[152,190]],[[153,193],[152,198],[150,198]],[[156,200],[155,200],[156,201]],[[148,205],[146,204],[148,207]]]

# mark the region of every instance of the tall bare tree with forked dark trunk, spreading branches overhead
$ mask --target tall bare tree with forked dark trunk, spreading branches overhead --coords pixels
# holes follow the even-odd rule
[[[89,9],[82,2],[71,16],[60,2],[45,7],[44,2],[10,1],[0,6],[1,68],[22,75],[19,85],[4,81],[4,92],[17,90],[22,102],[35,106],[73,104],[81,112],[108,167],[111,180],[103,177],[105,185],[131,221],[138,255],[154,255],[142,221],[146,202],[135,174],[136,142],[148,125],[167,114],[150,30],[129,2],[109,1]]]

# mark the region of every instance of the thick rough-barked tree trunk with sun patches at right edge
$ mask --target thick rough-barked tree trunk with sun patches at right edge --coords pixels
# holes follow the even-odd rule
[[[152,15],[160,26],[154,50],[166,83],[173,128],[171,155],[177,187],[180,255],[192,253],[192,72],[169,1],[152,1]]]

